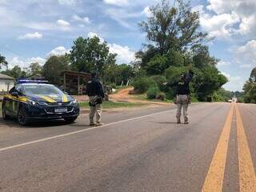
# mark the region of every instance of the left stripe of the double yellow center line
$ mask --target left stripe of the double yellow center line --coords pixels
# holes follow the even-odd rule
[[[226,118],[225,125],[222,130],[222,134],[218,140],[214,158],[210,163],[210,168],[206,175],[206,180],[202,187],[202,192],[221,192],[225,166],[226,166],[226,154],[228,150],[228,144],[230,140],[230,130],[232,124],[232,118],[234,113],[234,104],[232,104],[229,114]],[[249,191],[248,191],[249,192]]]

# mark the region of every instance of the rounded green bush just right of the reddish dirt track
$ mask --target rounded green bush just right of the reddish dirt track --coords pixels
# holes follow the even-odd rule
[[[142,77],[134,80],[134,90],[138,94],[144,94],[150,87],[157,87],[156,82],[152,78]]]

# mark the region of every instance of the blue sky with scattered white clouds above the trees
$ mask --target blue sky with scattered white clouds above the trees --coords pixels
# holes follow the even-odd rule
[[[172,0],[170,0],[171,2]],[[118,63],[134,60],[146,34],[138,22],[159,0],[0,0],[0,54],[10,68],[43,65],[51,55],[68,53],[76,38],[106,41]],[[256,1],[191,0],[200,30],[214,40],[210,54],[229,78],[224,88],[242,90],[256,66]]]

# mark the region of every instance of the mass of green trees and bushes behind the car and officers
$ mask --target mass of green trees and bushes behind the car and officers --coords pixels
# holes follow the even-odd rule
[[[217,69],[218,58],[209,52],[207,43],[212,38],[200,31],[199,13],[191,10],[190,3],[178,0],[170,4],[170,1],[162,0],[150,7],[150,13],[146,21],[139,23],[142,32],[147,34],[146,43],[136,53],[134,62],[118,65],[117,54],[110,53],[107,42],[97,36],[78,37],[70,54],[51,56],[43,66],[35,62],[27,69],[14,66],[2,73],[17,79],[41,75],[62,86],[62,70],[97,70],[103,84],[110,89],[129,82],[134,86],[133,94],[143,94],[151,100],[171,101],[175,95],[174,87],[163,86],[163,83],[178,81],[180,74],[191,69],[194,71],[191,82],[193,101],[224,102],[232,98],[234,93],[222,88],[228,80]],[[0,66],[6,66],[6,59],[3,56],[0,59]]]

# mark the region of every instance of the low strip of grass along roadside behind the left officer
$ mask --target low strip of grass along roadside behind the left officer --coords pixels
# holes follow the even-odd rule
[[[130,108],[130,107],[138,107],[138,106],[146,106],[146,103],[139,103],[139,102],[103,102],[102,108],[104,109],[114,109],[114,108]],[[89,103],[88,102],[80,102],[79,106],[82,109],[89,109]]]

